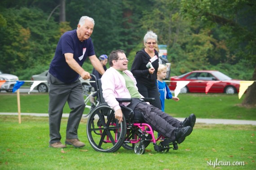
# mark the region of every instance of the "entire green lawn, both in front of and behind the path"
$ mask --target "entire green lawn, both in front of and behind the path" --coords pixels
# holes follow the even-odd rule
[[[180,94],[179,102],[166,100],[166,112],[174,117],[256,120],[255,108],[243,108],[237,95]],[[47,113],[48,93],[21,93],[21,112]],[[69,113],[66,105],[64,113]],[[17,95],[0,94],[0,112],[18,112]],[[146,153],[137,155],[120,148],[115,153],[100,153],[88,143],[87,119],[79,125],[79,139],[85,147],[75,149],[49,148],[47,117],[0,115],[0,170],[208,170],[245,169],[256,167],[256,126],[196,123],[194,131],[168,153],[154,151],[153,144]],[[62,118],[62,143],[65,142],[67,118]],[[156,136],[156,134],[155,134]],[[159,144],[159,142],[158,142]],[[239,164],[237,166],[227,164]],[[242,164],[242,165],[241,165]]]

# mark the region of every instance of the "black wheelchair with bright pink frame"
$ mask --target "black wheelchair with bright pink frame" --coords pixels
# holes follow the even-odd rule
[[[92,75],[91,75],[92,76]],[[106,104],[102,96],[101,80],[96,81],[97,93],[100,104],[94,108],[87,121],[88,141],[98,152],[116,152],[120,147],[134,150],[136,154],[144,154],[146,147],[154,144],[154,150],[167,153],[169,149],[177,150],[177,142],[171,141],[163,136],[157,139],[154,131],[138,110],[132,110],[127,106],[120,105],[123,112],[123,122],[120,124],[115,119],[115,110]],[[120,103],[131,102],[131,98],[116,98]],[[145,98],[150,102],[153,98]],[[160,140],[162,138],[163,140]],[[160,141],[157,144],[157,141]]]

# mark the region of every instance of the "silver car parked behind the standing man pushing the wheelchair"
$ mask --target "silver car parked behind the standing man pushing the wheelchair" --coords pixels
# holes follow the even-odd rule
[[[47,84],[47,74],[48,74],[48,70],[46,70],[40,74],[33,75],[31,77],[32,81],[45,81],[45,82],[41,82],[39,85],[37,85],[35,87],[38,90],[38,92],[40,92],[40,93],[45,93],[45,92],[49,91],[48,84]],[[83,85],[84,93],[88,94],[92,88],[89,80],[84,80],[81,77],[79,79]]]

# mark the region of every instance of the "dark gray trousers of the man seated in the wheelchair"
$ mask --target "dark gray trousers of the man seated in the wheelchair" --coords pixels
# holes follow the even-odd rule
[[[139,102],[134,110],[141,111],[146,123],[148,123],[153,130],[161,133],[170,140],[175,140],[174,130],[177,127],[181,127],[183,122],[173,118],[153,105],[146,104],[146,102]]]

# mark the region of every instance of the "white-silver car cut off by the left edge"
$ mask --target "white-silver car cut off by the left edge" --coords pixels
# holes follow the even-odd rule
[[[18,76],[14,76],[12,74],[3,74],[2,72],[0,72],[0,80],[6,81],[3,85],[1,85],[0,91],[5,90],[7,92],[12,92],[13,86],[19,79]]]

